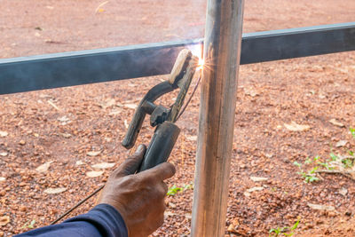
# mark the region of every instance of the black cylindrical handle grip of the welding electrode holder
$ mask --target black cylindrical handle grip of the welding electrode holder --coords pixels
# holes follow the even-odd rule
[[[179,133],[180,129],[172,122],[165,121],[159,124],[146,149],[146,155],[138,172],[148,170],[155,165],[168,161]]]

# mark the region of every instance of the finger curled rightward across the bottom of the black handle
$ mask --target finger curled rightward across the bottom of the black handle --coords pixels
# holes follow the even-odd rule
[[[175,166],[169,162],[163,162],[158,164],[157,166],[153,167],[149,170],[144,170],[138,175],[145,176],[145,178],[153,178],[154,180],[164,180],[167,178],[171,178],[175,174]]]

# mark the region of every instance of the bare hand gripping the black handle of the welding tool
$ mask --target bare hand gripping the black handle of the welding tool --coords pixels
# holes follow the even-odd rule
[[[169,162],[135,174],[145,153],[146,146],[138,146],[136,153],[112,172],[98,201],[117,209],[129,236],[134,237],[147,236],[162,225],[168,192],[163,180],[175,174],[175,167]]]

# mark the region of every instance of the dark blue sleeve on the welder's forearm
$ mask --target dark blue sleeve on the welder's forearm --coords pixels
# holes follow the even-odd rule
[[[127,237],[127,227],[121,214],[108,204],[99,204],[88,213],[67,219],[58,225],[48,225],[17,237]]]

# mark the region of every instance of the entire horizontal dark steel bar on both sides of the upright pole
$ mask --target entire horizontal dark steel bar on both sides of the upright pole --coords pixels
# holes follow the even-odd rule
[[[203,39],[0,59],[0,94],[165,75]],[[355,50],[355,22],[243,34],[241,64]]]

